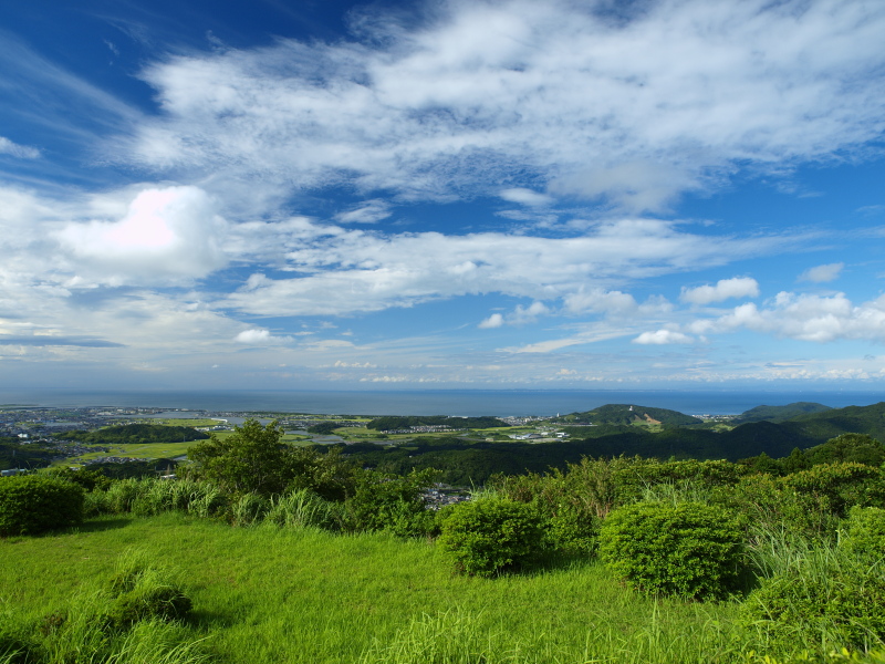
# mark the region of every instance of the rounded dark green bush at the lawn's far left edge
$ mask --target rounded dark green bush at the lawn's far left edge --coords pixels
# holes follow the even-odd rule
[[[0,536],[37,535],[82,520],[82,487],[39,475],[0,479]]]

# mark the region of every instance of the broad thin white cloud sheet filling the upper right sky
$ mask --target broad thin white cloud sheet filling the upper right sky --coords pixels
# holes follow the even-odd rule
[[[173,56],[142,74],[163,114],[110,148],[262,186],[442,200],[506,186],[531,205],[542,183],[642,210],[737,165],[827,158],[881,136],[885,7],[642,7],[614,28],[568,0],[449,2],[412,31],[376,18],[361,41]]]

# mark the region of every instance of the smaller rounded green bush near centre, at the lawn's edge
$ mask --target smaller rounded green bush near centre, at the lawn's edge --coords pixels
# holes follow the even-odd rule
[[[458,571],[477,577],[519,569],[546,549],[543,519],[531,505],[488,497],[461,502],[442,520],[440,548]]]

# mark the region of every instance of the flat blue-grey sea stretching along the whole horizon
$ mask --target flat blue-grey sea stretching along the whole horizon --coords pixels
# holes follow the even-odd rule
[[[550,416],[605,404],[670,408],[689,415],[737,415],[756,406],[816,402],[841,408],[885,401],[883,392],[678,390],[412,390],[412,391],[200,391],[0,392],[0,404],[49,407],[155,407],[215,412],[329,415]]]

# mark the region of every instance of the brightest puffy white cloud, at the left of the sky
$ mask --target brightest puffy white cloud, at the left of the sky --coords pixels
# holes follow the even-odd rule
[[[209,196],[186,186],[145,189],[122,219],[71,222],[58,238],[91,279],[149,283],[205,277],[225,266],[223,231]]]

